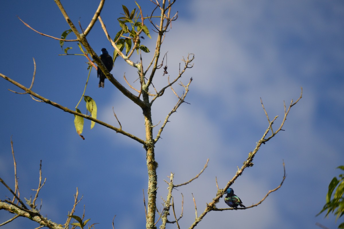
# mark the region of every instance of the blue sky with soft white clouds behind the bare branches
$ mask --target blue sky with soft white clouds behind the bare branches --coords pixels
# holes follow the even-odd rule
[[[129,2],[129,3],[128,3]],[[86,27],[98,5],[96,1],[63,1],[67,13]],[[138,1],[144,14],[153,4]],[[78,56],[62,54],[58,41],[41,36],[20,22],[18,15],[36,30],[59,37],[68,26],[53,1],[2,1],[0,12],[0,72],[29,87],[33,61],[37,71],[33,91],[74,109],[87,79],[87,64]],[[112,37],[119,30],[117,18],[121,4],[129,10],[132,1],[107,1],[101,16]],[[283,186],[261,205],[238,211],[209,213],[197,228],[319,228],[316,222],[337,228],[334,217],[315,217],[325,203],[327,186],[344,164],[344,3],[343,1],[177,1],[173,11],[179,18],[166,34],[161,53],[168,51],[168,72],[174,78],[179,62],[195,54],[194,67],[182,77],[192,77],[189,104],[183,104],[170,118],[155,147],[158,168],[158,199],[165,198],[163,181],[174,172],[175,183],[196,175],[209,158],[208,168],[193,183],[174,191],[175,204],[184,195],[182,228],[194,219],[192,195],[198,213],[216,194],[215,177],[222,188],[230,180],[248,152],[255,148],[268,126],[261,108],[274,117],[275,129],[283,115],[283,101],[303,98],[292,107],[285,126],[276,137],[262,146],[254,166],[232,186],[246,206],[257,203],[281,182],[282,160],[287,178]],[[148,21],[146,22],[148,24]],[[142,44],[154,50],[155,33]],[[72,38],[72,37],[69,37]],[[87,36],[100,54],[108,43],[99,22]],[[76,44],[70,53],[78,53]],[[147,66],[153,53],[143,54]],[[134,62],[139,60],[133,55]],[[136,69],[117,59],[111,73],[121,83],[137,78]],[[159,75],[160,74],[160,75]],[[167,76],[158,72],[154,85],[161,88]],[[63,224],[73,205],[76,187],[84,195],[76,215],[82,215],[96,228],[142,228],[145,224],[143,194],[147,193],[147,168],[140,144],[100,125],[90,130],[85,121],[82,140],[75,131],[74,117],[50,105],[33,101],[6,80],[0,80],[2,128],[0,131],[0,174],[13,187],[13,161],[10,136],[18,164],[21,197],[34,195],[38,184],[39,163],[47,178],[40,198],[41,213]],[[174,88],[182,93],[183,88]],[[98,119],[117,125],[112,107],[123,129],[144,138],[142,111],[109,81],[98,88],[96,71],[91,72],[86,95],[97,103]],[[177,102],[166,91],[153,106],[153,123],[163,121]],[[86,112],[84,104],[80,110]],[[159,124],[155,130],[158,130]],[[10,194],[0,187],[1,197]],[[146,196],[147,199],[147,196]],[[161,205],[158,201],[158,207]],[[162,201],[161,201],[162,202]],[[217,207],[226,207],[221,199]],[[176,207],[180,214],[180,207]],[[0,219],[12,217],[1,212]],[[17,219],[4,228],[35,228],[27,219]],[[175,228],[175,225],[169,225]]]

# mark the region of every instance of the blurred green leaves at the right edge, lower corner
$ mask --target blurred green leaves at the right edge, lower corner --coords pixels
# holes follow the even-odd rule
[[[344,171],[344,165],[339,166],[336,169],[341,169]],[[337,189],[333,195],[333,198],[331,199],[333,191],[335,190],[336,187]],[[335,212],[333,214],[337,215],[336,221],[339,217],[343,216],[344,215],[343,193],[344,193],[344,174],[340,174],[339,180],[336,177],[334,177],[331,183],[329,184],[329,192],[327,192],[327,195],[326,195],[326,204],[324,205],[320,213],[318,213],[318,215],[320,215],[323,211],[327,210],[325,217],[328,216],[330,212],[333,213],[334,211]],[[341,223],[338,226],[338,228],[344,228],[344,222]]]

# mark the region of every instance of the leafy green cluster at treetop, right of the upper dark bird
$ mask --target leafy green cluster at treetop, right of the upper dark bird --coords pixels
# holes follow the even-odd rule
[[[152,38],[149,34],[149,30],[146,25],[143,24],[142,21],[139,21],[141,19],[141,7],[137,2],[135,2],[139,11],[136,11],[136,8],[133,9],[130,13],[128,8],[125,5],[122,5],[124,14],[123,17],[118,18],[119,26],[121,27],[121,30],[118,31],[118,33],[115,36],[114,42],[116,43],[116,46],[119,50],[123,50],[124,47],[126,48],[126,55],[131,50],[131,46],[133,41],[135,42],[140,35],[139,32],[142,30],[143,33],[145,33],[149,38]],[[143,18],[143,17],[142,17]],[[142,37],[141,37],[142,38]],[[141,49],[145,53],[149,53],[149,49],[144,46],[140,45],[140,39],[138,39],[136,50],[137,52]],[[116,57],[118,56],[117,51],[114,51],[114,62]]]

